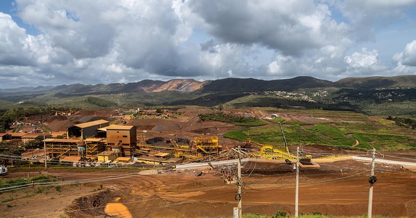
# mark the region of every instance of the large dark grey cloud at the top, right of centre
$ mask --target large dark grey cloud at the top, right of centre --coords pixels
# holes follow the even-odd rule
[[[322,46],[318,33],[300,17],[313,16],[313,1],[191,1],[189,6],[207,24],[208,33],[237,44],[260,43],[288,55]],[[318,35],[317,35],[318,34]]]

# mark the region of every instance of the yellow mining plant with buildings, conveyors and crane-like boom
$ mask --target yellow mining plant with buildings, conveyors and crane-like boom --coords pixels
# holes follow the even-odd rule
[[[124,113],[121,115],[125,116]],[[164,117],[162,114],[159,116]],[[116,116],[111,115],[111,117]],[[225,140],[222,136],[218,138],[216,134],[221,135],[218,131],[218,125],[221,124],[214,124],[217,132],[212,134],[209,133],[209,128],[185,132],[184,129],[189,127],[188,122],[191,122],[191,126],[202,124],[196,122],[196,119],[184,120],[182,124],[172,121],[168,123],[166,120],[157,118],[131,120],[132,125],[129,125],[129,122],[123,125],[110,125],[110,121],[104,119],[76,123],[66,127],[64,137],[48,136],[42,140],[46,161],[55,159],[78,166],[85,165],[85,163],[88,165],[175,165],[190,161],[205,162],[234,158],[230,156],[232,153],[230,149],[233,147],[241,147],[245,150],[247,157],[280,160],[295,158],[294,154],[289,151],[281,124],[281,142],[284,143],[285,150],[275,149],[271,145],[261,145],[250,138],[243,142]],[[149,121],[154,121],[153,126],[150,126],[151,129],[146,125]],[[57,125],[56,120],[52,122]],[[174,127],[175,125],[177,128]],[[146,127],[148,130],[142,129]],[[190,136],[191,134],[193,136]],[[152,136],[153,138],[147,138]],[[36,158],[28,157],[28,159],[31,158],[39,161],[45,159],[45,157],[42,159],[42,154]],[[313,164],[311,156],[306,156],[302,160],[309,160],[309,163]]]

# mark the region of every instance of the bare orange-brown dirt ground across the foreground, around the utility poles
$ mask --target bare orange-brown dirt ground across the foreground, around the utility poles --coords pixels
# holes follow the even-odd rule
[[[365,215],[369,173],[359,169],[367,167],[367,163],[344,161],[322,165],[319,170],[302,170],[300,212]],[[272,215],[286,210],[293,215],[295,174],[290,167],[278,174],[258,174],[270,166],[255,163],[247,163],[245,169],[243,213]],[[416,173],[390,165],[377,169],[373,215],[416,217]],[[104,217],[107,203],[117,202],[123,203],[132,217],[232,216],[236,185],[225,185],[218,170],[205,170],[202,176],[196,176],[196,172],[168,171],[148,176],[120,169],[48,172],[65,181],[103,181],[5,192],[0,194],[0,210],[5,217]],[[128,177],[105,180],[114,175]]]

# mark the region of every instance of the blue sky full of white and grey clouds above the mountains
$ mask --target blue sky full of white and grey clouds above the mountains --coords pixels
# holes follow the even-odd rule
[[[0,1],[0,89],[416,75],[416,0]]]

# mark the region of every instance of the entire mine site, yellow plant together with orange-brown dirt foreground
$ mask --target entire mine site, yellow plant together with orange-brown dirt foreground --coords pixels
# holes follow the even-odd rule
[[[270,117],[255,109],[230,110],[239,115]],[[223,137],[246,127],[201,122],[206,109],[180,109],[166,118],[130,120],[112,114],[122,125],[110,125],[104,112],[83,111],[46,125],[66,131],[64,138],[46,138],[49,158],[62,162],[99,163],[101,167],[9,169],[3,178],[55,176],[51,185],[1,192],[5,217],[232,217],[241,184],[243,215],[295,214],[295,181],[299,170],[299,212],[309,215],[367,214],[371,161],[365,151],[324,145],[288,145],[279,123],[279,149],[247,138]],[[150,112],[148,112],[150,114]],[[96,120],[71,123],[94,116]],[[147,115],[146,115],[147,116]],[[155,116],[153,113],[150,116]],[[162,115],[163,116],[163,115]],[[322,122],[311,116],[284,114],[286,120]],[[336,119],[336,118],[333,118]],[[325,120],[328,121],[328,120]],[[107,123],[108,122],[108,123]],[[114,120],[111,121],[114,123]],[[256,129],[258,127],[250,127]],[[39,150],[42,154],[44,151]],[[299,161],[297,161],[297,154]],[[416,152],[377,154],[373,215],[416,217]],[[42,160],[43,156],[38,157]],[[238,162],[241,159],[241,183]],[[382,161],[398,161],[385,163]],[[402,161],[407,161],[402,162]],[[49,161],[48,161],[49,162]],[[67,163],[68,163],[67,162]],[[111,165],[111,164],[115,165]],[[294,167],[296,164],[300,167]],[[91,164],[92,165],[92,164]],[[128,167],[114,167],[114,166]],[[105,166],[105,167],[103,167]],[[106,167],[111,166],[111,167]],[[48,207],[45,207],[48,205]]]

